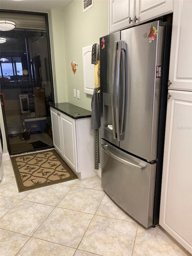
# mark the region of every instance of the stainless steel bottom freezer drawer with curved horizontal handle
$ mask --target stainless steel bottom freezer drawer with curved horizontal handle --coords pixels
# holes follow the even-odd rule
[[[102,188],[144,227],[153,221],[156,164],[148,164],[102,140]]]

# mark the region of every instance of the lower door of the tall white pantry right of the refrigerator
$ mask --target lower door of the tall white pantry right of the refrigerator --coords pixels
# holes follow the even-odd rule
[[[192,253],[192,92],[169,93],[159,224]]]

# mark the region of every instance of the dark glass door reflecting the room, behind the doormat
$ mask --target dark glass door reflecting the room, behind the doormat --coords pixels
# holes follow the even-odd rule
[[[54,102],[48,15],[1,10],[16,23],[1,31],[0,92],[9,154],[53,146],[49,103]],[[3,58],[3,59],[2,59]]]

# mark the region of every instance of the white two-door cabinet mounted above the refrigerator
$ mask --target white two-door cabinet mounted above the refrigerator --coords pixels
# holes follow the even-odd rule
[[[109,32],[173,12],[173,0],[109,0]]]

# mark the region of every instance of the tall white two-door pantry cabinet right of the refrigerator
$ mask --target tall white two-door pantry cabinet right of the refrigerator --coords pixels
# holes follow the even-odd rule
[[[192,254],[192,1],[174,1],[160,225]]]

